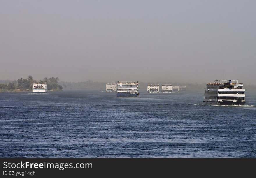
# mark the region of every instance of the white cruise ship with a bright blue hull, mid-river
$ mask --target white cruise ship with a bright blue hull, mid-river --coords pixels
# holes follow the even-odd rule
[[[118,97],[137,97],[139,95],[138,89],[138,82],[117,82]]]

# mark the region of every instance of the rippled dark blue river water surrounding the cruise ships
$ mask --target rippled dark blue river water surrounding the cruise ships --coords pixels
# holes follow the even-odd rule
[[[256,157],[256,92],[246,106],[204,93],[0,93],[0,157]]]

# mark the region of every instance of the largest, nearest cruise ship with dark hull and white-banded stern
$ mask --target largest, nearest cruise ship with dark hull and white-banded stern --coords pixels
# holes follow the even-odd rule
[[[245,89],[238,80],[215,80],[207,83],[204,104],[244,105]]]

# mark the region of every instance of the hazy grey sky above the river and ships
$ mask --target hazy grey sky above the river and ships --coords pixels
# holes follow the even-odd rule
[[[256,1],[0,0],[0,79],[255,84]]]

